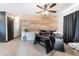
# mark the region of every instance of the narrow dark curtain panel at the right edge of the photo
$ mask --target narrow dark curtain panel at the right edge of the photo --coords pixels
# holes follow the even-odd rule
[[[79,42],[79,11],[76,12],[76,29],[74,42]]]

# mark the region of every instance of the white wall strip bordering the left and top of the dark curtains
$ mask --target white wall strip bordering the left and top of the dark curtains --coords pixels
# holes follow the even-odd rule
[[[63,34],[63,16],[73,13],[77,10],[79,10],[79,4],[73,5],[73,6],[69,7],[66,11],[61,13],[61,15],[59,16],[59,21],[58,21],[58,24],[59,24],[58,32],[60,34]]]

